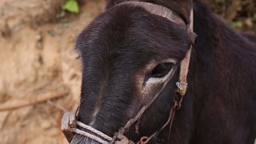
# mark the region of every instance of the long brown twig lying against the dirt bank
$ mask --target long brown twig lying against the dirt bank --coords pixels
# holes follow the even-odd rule
[[[38,104],[38,103],[41,103],[41,102],[45,102],[48,99],[59,98],[61,96],[65,96],[67,94],[69,94],[69,91],[57,92],[53,95],[41,96],[37,99],[26,101],[26,102],[20,102],[18,104],[14,104],[14,105],[2,104],[2,105],[0,105],[0,111],[13,110],[13,109],[20,108],[20,107],[25,107],[25,106],[28,106],[28,105],[35,105],[35,104]]]

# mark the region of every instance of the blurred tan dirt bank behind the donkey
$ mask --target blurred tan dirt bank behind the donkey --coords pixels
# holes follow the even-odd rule
[[[81,81],[74,41],[105,0],[80,0],[78,15],[57,19],[64,2],[0,0],[1,144],[68,144],[60,122],[79,104]],[[247,21],[238,30],[255,33],[255,20]]]

